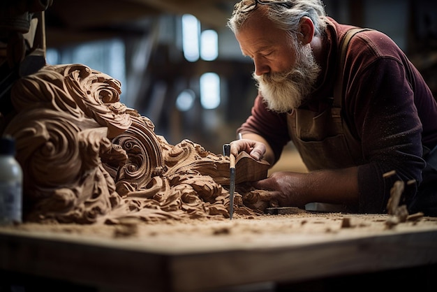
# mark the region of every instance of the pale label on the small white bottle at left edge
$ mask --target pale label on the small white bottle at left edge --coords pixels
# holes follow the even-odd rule
[[[20,182],[0,182],[0,224],[22,221],[22,186]]]

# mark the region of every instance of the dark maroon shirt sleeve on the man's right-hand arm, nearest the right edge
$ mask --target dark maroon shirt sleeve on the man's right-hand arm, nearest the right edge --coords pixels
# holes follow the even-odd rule
[[[413,199],[422,181],[422,123],[415,93],[405,78],[406,68],[397,59],[376,59],[362,71],[346,96],[346,112],[362,140],[365,163],[358,166],[359,212],[385,212],[394,182],[406,185],[406,202]],[[384,177],[395,170],[396,174]]]

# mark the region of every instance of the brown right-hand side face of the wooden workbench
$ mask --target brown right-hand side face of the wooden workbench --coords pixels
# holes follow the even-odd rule
[[[321,242],[300,247],[176,256],[174,291],[257,282],[302,282],[437,263],[436,231]]]

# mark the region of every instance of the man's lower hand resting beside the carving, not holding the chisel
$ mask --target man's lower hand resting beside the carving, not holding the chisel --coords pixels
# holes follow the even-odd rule
[[[302,173],[280,171],[265,180],[253,182],[255,189],[269,191],[267,199],[279,207],[302,207],[309,203],[302,188]]]

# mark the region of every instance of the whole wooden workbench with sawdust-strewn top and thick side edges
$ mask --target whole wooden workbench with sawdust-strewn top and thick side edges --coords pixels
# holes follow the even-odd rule
[[[0,270],[3,280],[32,275],[95,291],[231,291],[437,263],[437,218],[394,226],[388,219],[305,212],[232,221],[3,226]]]

